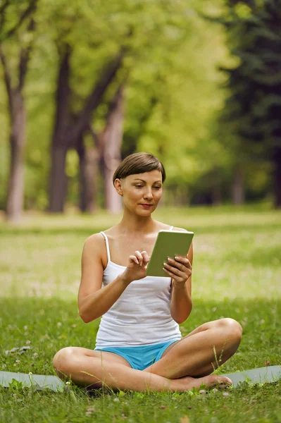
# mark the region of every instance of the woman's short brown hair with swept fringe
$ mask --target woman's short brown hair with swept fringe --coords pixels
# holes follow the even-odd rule
[[[162,173],[162,182],[166,179],[166,172],[161,161],[150,153],[134,153],[120,163],[113,175],[113,183],[116,178],[126,178],[129,175],[137,173],[160,171]]]

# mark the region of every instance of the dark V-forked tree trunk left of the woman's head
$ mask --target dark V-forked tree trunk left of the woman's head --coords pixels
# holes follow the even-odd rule
[[[56,121],[51,145],[50,212],[63,212],[67,189],[66,154],[68,149],[75,148],[82,142],[92,113],[99,106],[106,88],[113,80],[123,60],[123,51],[120,51],[110,63],[106,63],[99,80],[94,82],[92,91],[85,99],[84,106],[74,114],[70,104],[71,48],[67,44],[63,47],[56,91]]]

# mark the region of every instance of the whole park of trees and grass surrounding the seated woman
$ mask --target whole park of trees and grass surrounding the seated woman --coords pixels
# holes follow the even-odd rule
[[[232,317],[244,337],[218,372],[280,364],[280,51],[280,0],[0,1],[0,370],[53,374],[59,348],[94,348],[82,247],[119,221],[113,171],[140,151],[167,171],[156,219],[195,233],[182,334]],[[281,422],[280,391],[92,400],[15,384],[0,421]]]

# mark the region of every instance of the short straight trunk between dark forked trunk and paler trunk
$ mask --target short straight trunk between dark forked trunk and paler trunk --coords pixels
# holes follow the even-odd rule
[[[96,211],[96,180],[99,153],[96,147],[85,147],[83,142],[77,148],[80,163],[80,210],[93,214]]]

